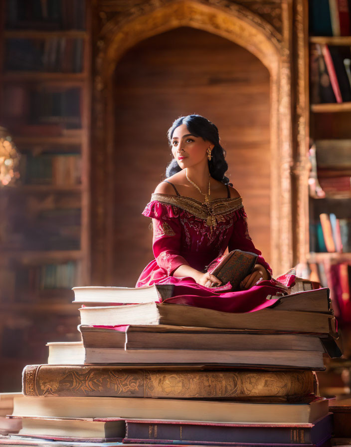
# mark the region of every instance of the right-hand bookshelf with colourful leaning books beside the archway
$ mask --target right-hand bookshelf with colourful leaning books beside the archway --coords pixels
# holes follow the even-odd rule
[[[309,6],[309,119],[314,146],[310,150],[307,261],[311,276],[330,287],[340,326],[347,329],[351,323],[351,28],[349,23],[346,29],[347,21],[340,22],[344,35],[336,35],[338,23],[327,16],[317,23],[314,7],[318,2],[310,0]],[[326,35],[320,35],[314,25],[323,25]]]

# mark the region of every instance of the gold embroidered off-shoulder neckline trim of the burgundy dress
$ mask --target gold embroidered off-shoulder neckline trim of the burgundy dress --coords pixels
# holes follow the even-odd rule
[[[166,205],[174,205],[184,211],[188,211],[195,217],[203,219],[205,224],[209,226],[211,230],[212,227],[217,226],[217,222],[222,222],[224,220],[224,215],[243,208],[241,197],[234,199],[214,199],[211,200],[208,205],[205,205],[191,197],[154,193],[151,196],[151,201],[154,200]]]

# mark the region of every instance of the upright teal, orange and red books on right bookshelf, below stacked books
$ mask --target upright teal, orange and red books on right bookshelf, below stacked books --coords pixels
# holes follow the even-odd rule
[[[351,252],[351,219],[322,213],[319,222],[310,223],[310,251]]]

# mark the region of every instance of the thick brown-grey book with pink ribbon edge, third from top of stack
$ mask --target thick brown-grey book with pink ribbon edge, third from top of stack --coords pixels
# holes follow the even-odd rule
[[[161,329],[159,329],[161,328]],[[169,328],[169,329],[168,329]],[[320,351],[317,336],[265,334],[163,325],[79,326],[85,348]]]

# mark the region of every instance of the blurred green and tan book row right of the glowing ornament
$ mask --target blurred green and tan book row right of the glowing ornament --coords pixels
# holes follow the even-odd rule
[[[20,182],[29,185],[73,186],[81,183],[80,154],[21,154]]]

